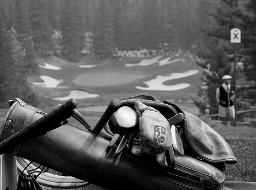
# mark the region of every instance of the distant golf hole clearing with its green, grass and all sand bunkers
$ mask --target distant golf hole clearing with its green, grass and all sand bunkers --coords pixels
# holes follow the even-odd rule
[[[40,76],[29,78],[29,82],[42,101],[50,104],[63,102],[63,97],[69,95],[83,106],[106,105],[114,97],[138,94],[171,101],[191,101],[202,84],[201,68],[188,55],[122,60],[86,57],[79,63],[53,56],[38,58],[37,62]],[[73,91],[87,94],[80,98],[70,94]]]

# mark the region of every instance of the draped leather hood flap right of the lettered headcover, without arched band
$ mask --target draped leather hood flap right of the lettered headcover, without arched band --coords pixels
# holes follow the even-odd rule
[[[173,103],[165,103],[184,114],[184,120],[180,123],[180,127],[183,146],[186,147],[184,151],[188,155],[199,156],[209,162],[226,162],[227,164],[237,162],[229,144],[219,133],[197,116],[181,110]]]

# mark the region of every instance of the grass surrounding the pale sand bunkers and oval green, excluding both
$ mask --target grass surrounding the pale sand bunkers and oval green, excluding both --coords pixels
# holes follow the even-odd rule
[[[147,58],[150,59],[151,57]],[[165,57],[163,57],[164,59]],[[177,57],[173,57],[172,59],[176,59]],[[142,60],[142,58],[125,58],[123,60],[95,60],[91,58],[83,58],[80,64],[86,65],[94,65],[97,64],[97,67],[94,68],[78,68],[78,64],[68,63],[65,60],[60,58],[51,57],[51,58],[38,58],[39,64],[43,64],[47,62],[48,64],[56,65],[62,67],[62,70],[48,70],[40,68],[41,75],[48,75],[54,78],[63,79],[62,86],[69,86],[69,89],[43,89],[40,87],[33,87],[35,92],[41,96],[44,101],[49,102],[45,105],[53,104],[54,101],[49,98],[52,97],[60,97],[66,96],[69,94],[71,89],[81,89],[84,91],[88,91],[91,93],[97,93],[100,95],[98,98],[88,98],[79,100],[79,104],[81,106],[92,106],[92,105],[106,105],[113,97],[123,98],[129,97],[137,94],[150,94],[158,99],[191,99],[192,96],[197,95],[198,87],[202,84],[200,81],[200,73],[197,75],[193,75],[190,77],[185,77],[181,79],[169,80],[165,82],[165,85],[173,85],[177,83],[190,83],[191,86],[189,88],[182,89],[180,91],[141,91],[136,89],[135,86],[146,86],[143,82],[152,78],[155,78],[157,75],[170,75],[173,72],[184,72],[190,69],[200,69],[194,61],[189,58],[186,58],[185,62],[178,61],[173,64],[165,65],[159,67],[157,64],[153,64],[151,66],[142,67],[142,66],[134,66],[134,67],[125,67],[126,63],[138,63]],[[72,83],[72,80],[83,73],[90,73],[92,71],[105,71],[115,70],[122,71],[126,73],[137,73],[143,74],[145,76],[142,79],[134,80],[130,84],[124,85],[115,85],[109,87],[86,87],[81,85],[76,85]],[[35,78],[31,80],[36,80]],[[45,99],[47,98],[47,99]],[[59,103],[55,101],[56,103]]]

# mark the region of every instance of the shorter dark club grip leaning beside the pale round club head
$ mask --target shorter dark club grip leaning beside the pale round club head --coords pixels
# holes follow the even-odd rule
[[[110,101],[110,103],[109,103],[108,107],[106,108],[105,112],[103,113],[103,115],[100,117],[98,123],[93,128],[92,133],[99,134],[101,129],[104,128],[105,124],[108,122],[108,120],[113,115],[113,113],[115,113],[115,111],[117,111],[119,106],[120,106],[119,99],[113,98]]]

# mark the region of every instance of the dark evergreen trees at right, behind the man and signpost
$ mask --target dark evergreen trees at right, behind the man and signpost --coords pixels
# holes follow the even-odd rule
[[[235,76],[234,43],[230,42],[230,30],[239,28],[241,43],[236,44],[237,110],[245,110],[256,103],[256,2],[254,0],[221,0],[211,13],[215,24],[204,30],[208,39],[198,46],[198,64],[204,68],[203,86],[195,103],[204,112],[208,106],[211,113],[218,112],[215,91],[222,83],[223,75]],[[234,80],[232,81],[234,85]],[[237,84],[236,83],[236,84]],[[242,116],[239,116],[242,119]]]

